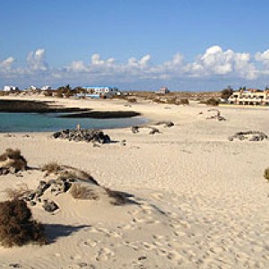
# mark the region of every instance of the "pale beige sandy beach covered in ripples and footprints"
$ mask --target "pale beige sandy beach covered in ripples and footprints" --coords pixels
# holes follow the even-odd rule
[[[59,102],[130,109],[151,123],[167,120],[175,126],[157,126],[161,134],[152,135],[148,129],[104,130],[115,141],[125,139],[126,146],[93,147],[54,140],[50,133],[0,134],[0,152],[19,148],[30,167],[57,161],[83,169],[101,186],[132,195],[133,202],[114,206],[105,197],[82,201],[67,193],[54,198],[60,205],[56,213],[31,207],[46,225],[48,246],[1,247],[0,268],[269,267],[269,182],[263,177],[269,141],[228,140],[239,131],[269,134],[268,109],[219,108],[227,121],[216,121],[206,120],[213,112],[197,104]],[[37,187],[43,176],[38,170],[1,176],[0,199],[6,199],[6,187],[22,182]]]

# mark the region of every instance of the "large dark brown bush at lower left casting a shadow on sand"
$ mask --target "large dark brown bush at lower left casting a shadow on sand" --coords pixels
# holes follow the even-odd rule
[[[47,243],[43,225],[32,220],[27,204],[19,199],[0,203],[0,241],[4,247]]]

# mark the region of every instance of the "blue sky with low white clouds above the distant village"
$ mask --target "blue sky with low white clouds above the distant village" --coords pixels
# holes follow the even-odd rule
[[[0,0],[0,88],[269,85],[268,0]]]

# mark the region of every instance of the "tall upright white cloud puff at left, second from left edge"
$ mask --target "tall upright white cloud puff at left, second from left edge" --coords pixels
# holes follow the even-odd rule
[[[39,48],[36,51],[30,51],[27,56],[27,65],[30,71],[47,71],[48,64],[45,60],[46,51]]]

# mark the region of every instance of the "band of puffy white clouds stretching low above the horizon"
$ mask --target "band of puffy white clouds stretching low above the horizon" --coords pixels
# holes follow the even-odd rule
[[[125,63],[119,63],[113,57],[105,59],[95,53],[87,62],[74,61],[55,68],[48,64],[46,50],[39,48],[30,51],[24,66],[15,64],[13,56],[0,59],[0,79],[3,82],[52,85],[113,83],[129,89],[137,85],[147,89],[154,84],[173,82],[177,85],[181,82],[180,85],[183,85],[182,82],[186,82],[187,85],[193,83],[195,89],[195,83],[199,82],[266,82],[269,78],[269,49],[252,56],[215,45],[196,56],[194,61],[187,61],[177,53],[161,64],[154,64],[150,54],[140,58],[130,56]]]

